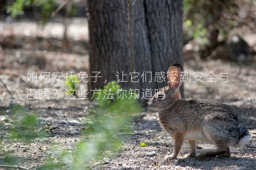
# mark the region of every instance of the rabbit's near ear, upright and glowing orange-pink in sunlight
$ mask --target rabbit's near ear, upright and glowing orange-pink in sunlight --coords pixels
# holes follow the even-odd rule
[[[177,67],[171,66],[168,68],[167,77],[169,82],[169,87],[172,91],[175,91],[180,85],[180,71]]]

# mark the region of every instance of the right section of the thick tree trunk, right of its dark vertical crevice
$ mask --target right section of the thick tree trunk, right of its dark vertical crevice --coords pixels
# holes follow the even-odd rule
[[[144,1],[151,64],[154,73],[167,71],[175,62],[183,63],[182,0]],[[166,86],[157,82],[154,88]],[[183,96],[183,87],[180,89]]]

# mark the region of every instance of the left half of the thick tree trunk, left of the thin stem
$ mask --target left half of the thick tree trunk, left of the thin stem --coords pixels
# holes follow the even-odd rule
[[[102,88],[106,82],[116,80],[118,71],[128,72],[128,22],[125,0],[88,0],[90,37],[90,76],[101,72],[96,82],[90,79],[89,90]],[[128,81],[128,80],[127,80]],[[121,82],[129,88],[129,82]]]

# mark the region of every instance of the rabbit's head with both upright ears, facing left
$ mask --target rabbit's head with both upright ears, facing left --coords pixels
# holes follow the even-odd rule
[[[177,100],[181,99],[180,72],[183,71],[180,63],[175,63],[167,71],[168,86],[163,87],[160,91],[152,96],[148,101],[148,107],[154,111],[163,111],[171,107]]]

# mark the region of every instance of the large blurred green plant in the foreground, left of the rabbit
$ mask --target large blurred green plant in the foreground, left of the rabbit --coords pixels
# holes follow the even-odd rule
[[[117,92],[120,88],[113,81],[105,85],[102,91],[111,89]],[[85,127],[80,137],[82,140],[76,149],[63,150],[57,156],[49,156],[47,163],[38,169],[90,169],[93,162],[114,156],[123,149],[123,140],[132,134],[131,123],[134,115],[141,111],[141,106],[136,99],[116,99],[115,95],[113,99],[100,100],[96,111],[90,111],[85,116]]]

